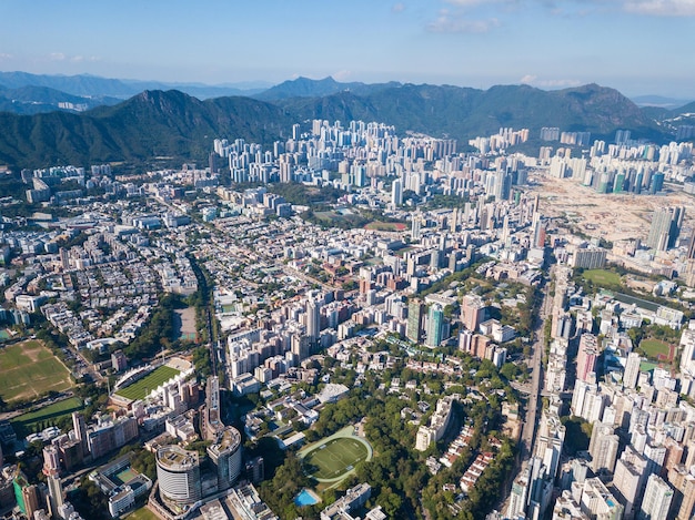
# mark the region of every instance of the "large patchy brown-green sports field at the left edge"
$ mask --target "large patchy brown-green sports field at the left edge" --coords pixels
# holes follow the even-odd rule
[[[0,397],[8,402],[72,388],[68,368],[34,339],[0,348]]]

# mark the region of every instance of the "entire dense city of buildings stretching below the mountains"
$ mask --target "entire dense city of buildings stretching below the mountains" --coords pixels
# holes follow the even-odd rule
[[[4,169],[0,514],[693,518],[693,130]]]

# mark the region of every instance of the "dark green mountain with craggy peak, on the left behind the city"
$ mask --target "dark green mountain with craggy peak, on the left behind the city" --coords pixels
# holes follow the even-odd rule
[[[293,119],[250,98],[200,101],[179,91],[144,91],[115,106],[82,114],[0,113],[0,164],[140,162],[155,156],[202,160],[219,136],[271,142]]]

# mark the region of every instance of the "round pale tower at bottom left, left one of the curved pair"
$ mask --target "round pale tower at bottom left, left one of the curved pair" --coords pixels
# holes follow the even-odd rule
[[[197,502],[202,498],[198,451],[172,445],[157,450],[157,479],[163,499],[177,504]]]

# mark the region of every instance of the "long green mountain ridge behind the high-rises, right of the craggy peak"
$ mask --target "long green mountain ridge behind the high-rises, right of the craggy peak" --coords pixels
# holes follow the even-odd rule
[[[558,126],[608,136],[616,129],[661,139],[656,123],[627,98],[595,84],[543,91],[528,85],[493,86],[486,91],[460,86],[413,85],[383,89],[369,95],[340,92],[325,98],[288,99],[276,103],[302,119],[383,121],[399,131],[424,132],[460,141],[487,135],[500,128]]]

